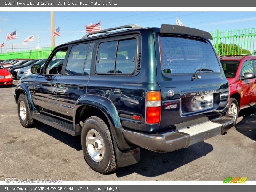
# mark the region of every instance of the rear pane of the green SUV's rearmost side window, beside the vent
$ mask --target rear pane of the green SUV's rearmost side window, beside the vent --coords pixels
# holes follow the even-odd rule
[[[115,73],[132,73],[136,65],[137,40],[119,41]]]

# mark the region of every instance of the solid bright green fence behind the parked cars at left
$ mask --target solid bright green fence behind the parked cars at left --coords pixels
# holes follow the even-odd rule
[[[53,47],[45,47],[34,50],[17,51],[0,54],[0,59],[42,59],[48,58],[53,50]]]

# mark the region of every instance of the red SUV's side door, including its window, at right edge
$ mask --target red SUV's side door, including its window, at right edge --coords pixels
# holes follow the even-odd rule
[[[243,63],[241,69],[241,77],[244,76],[244,73],[254,73],[254,68],[252,60],[247,60]],[[241,101],[241,107],[244,107],[250,103],[256,101],[256,78],[242,80],[240,86],[242,87],[243,99]]]

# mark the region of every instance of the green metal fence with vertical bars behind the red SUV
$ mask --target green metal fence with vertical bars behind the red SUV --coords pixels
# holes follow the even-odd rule
[[[256,54],[256,28],[211,32],[218,55]]]

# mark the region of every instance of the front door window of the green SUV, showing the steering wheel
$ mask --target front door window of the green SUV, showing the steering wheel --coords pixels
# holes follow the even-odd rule
[[[47,64],[45,74],[60,74],[67,50],[68,47],[65,47],[55,52],[50,63]]]

